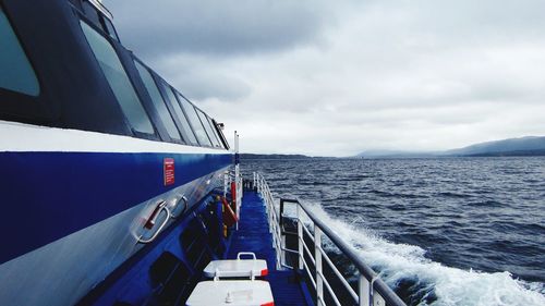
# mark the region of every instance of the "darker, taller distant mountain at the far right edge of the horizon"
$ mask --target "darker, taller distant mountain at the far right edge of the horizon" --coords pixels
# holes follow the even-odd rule
[[[495,155],[541,155],[545,152],[545,137],[526,136],[487,142],[468,147],[447,150],[449,156],[495,156]]]

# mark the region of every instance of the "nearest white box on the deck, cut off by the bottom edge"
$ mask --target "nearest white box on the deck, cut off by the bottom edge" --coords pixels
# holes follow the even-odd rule
[[[189,306],[274,305],[272,292],[266,281],[223,280],[199,282],[191,293]]]

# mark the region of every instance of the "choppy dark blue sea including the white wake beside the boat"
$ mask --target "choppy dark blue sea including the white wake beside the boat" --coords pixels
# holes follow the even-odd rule
[[[545,305],[545,158],[244,160],[412,305]]]

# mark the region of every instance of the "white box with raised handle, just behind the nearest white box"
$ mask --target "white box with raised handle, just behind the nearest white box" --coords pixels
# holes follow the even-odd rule
[[[241,256],[249,255],[252,259],[241,259]],[[254,253],[241,252],[237,259],[213,260],[204,269],[207,278],[254,278],[265,277],[268,273],[267,261],[256,259]]]

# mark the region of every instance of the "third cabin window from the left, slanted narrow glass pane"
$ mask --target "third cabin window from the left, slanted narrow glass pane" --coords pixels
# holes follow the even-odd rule
[[[175,127],[174,120],[172,120],[172,117],[165,105],[165,100],[162,99],[152,74],[141,63],[136,61],[134,63],[136,64],[136,69],[138,70],[142,81],[144,82],[144,86],[146,86],[147,93],[152,97],[152,101],[157,109],[160,120],[165,123],[165,127],[167,127],[167,133],[170,138],[181,140],[182,137],[180,136],[180,132],[178,132],[178,128]]]

